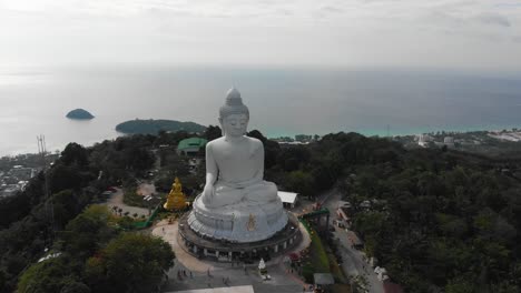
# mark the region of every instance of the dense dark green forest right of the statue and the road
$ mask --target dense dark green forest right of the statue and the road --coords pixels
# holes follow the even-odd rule
[[[309,196],[332,185],[343,192],[366,254],[406,292],[521,292],[518,160],[405,150],[356,133],[277,158],[267,174],[279,185]]]

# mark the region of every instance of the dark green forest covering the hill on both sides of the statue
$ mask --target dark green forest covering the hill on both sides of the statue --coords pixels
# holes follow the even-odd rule
[[[209,127],[201,135],[218,138],[220,129]],[[521,183],[510,172],[520,168],[518,160],[446,148],[406,150],[387,139],[357,133],[328,134],[306,145],[278,144],[255,130],[248,135],[263,141],[265,178],[281,190],[313,199],[338,189],[352,203],[353,229],[364,240],[365,253],[376,257],[406,292],[521,292]],[[63,272],[73,274],[57,284],[61,290],[75,285],[110,292],[104,290],[112,281],[101,277],[99,272],[106,269],[92,255],[117,254],[125,243],[147,240],[128,239],[131,236],[125,232],[105,228],[92,229],[95,236],[86,235],[98,238],[96,245],[75,242],[68,235],[81,219],[94,218],[87,222],[105,226],[96,218],[104,212],[86,206],[107,186],[130,184],[150,169],[158,168],[159,189],[167,191],[178,175],[184,188],[196,193],[204,170],[189,172],[187,159],[175,153],[177,143],[188,137],[161,131],[88,149],[69,144],[48,171],[55,231],[65,232],[48,232],[42,173],[23,193],[0,202],[1,292],[11,292],[17,284],[27,289],[31,275]],[[155,165],[157,160],[159,165]],[[366,201],[371,202],[368,209],[361,204]],[[106,216],[102,221],[111,228],[110,221],[117,220]],[[47,261],[35,267],[46,247],[65,257],[78,256],[75,261],[52,260],[58,263],[52,272],[45,270]],[[158,255],[161,253],[158,249]],[[157,281],[154,277],[145,283]]]

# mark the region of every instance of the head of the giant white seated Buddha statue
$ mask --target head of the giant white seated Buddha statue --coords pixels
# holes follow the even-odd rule
[[[232,88],[226,102],[219,109],[219,123],[224,137],[238,138],[246,133],[249,121],[249,110],[243,103],[240,93]]]

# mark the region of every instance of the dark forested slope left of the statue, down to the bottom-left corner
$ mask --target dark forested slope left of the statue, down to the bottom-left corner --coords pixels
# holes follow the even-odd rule
[[[173,265],[170,246],[126,233],[119,223],[125,218],[91,205],[108,186],[134,181],[153,166],[155,141],[156,137],[137,135],[89,149],[70,143],[47,173],[33,178],[18,195],[1,200],[0,292],[155,290]],[[135,247],[139,250],[132,252]],[[56,257],[37,263],[46,255]],[[145,260],[148,266],[140,264]],[[125,265],[134,270],[118,270]]]

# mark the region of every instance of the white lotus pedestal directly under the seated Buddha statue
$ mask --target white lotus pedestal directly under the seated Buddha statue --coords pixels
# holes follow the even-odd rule
[[[208,209],[197,196],[188,225],[197,234],[215,240],[248,243],[271,238],[287,224],[281,200],[263,205],[230,205]]]

